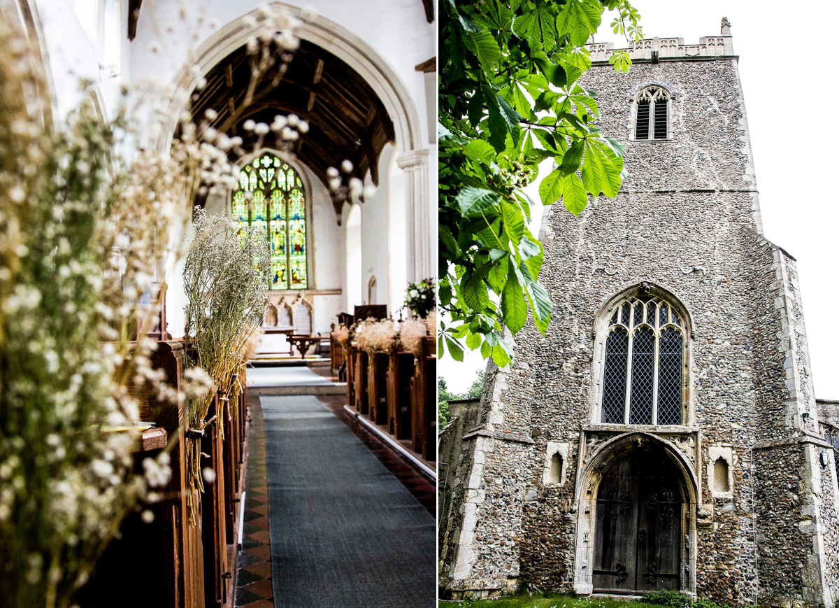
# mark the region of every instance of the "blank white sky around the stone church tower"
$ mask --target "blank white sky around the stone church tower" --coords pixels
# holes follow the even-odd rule
[[[816,396],[839,399],[836,349],[831,345],[832,307],[839,301],[839,185],[828,179],[839,176],[839,112],[832,104],[839,88],[833,76],[839,3],[633,0],[633,5],[641,13],[645,38],[679,37],[696,44],[701,36],[720,33],[723,16],[731,22],[763,233],[798,260]],[[608,29],[611,20],[604,18],[597,40],[625,46]],[[475,370],[484,366],[479,354],[466,355],[463,364],[449,354],[440,359],[440,375],[452,392],[464,392]]]

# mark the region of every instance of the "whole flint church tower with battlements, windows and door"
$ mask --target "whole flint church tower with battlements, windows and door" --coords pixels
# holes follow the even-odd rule
[[[546,210],[550,329],[443,433],[441,588],[832,608],[839,417],[813,395],[795,259],[763,238],[727,20],[643,40],[627,75],[588,48],[628,176],[580,218]]]

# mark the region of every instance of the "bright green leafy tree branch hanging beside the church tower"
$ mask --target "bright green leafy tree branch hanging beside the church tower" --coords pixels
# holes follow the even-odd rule
[[[536,202],[524,192],[541,161],[555,161],[539,184],[544,205],[578,215],[589,196],[618,194],[623,145],[597,128],[597,93],[579,83],[607,10],[616,34],[642,38],[627,0],[441,3],[441,355],[462,360],[465,343],[503,366],[513,356],[503,328],[517,333],[530,312],[547,330],[544,254],[528,228]],[[632,62],[623,50],[610,63],[625,72]]]

